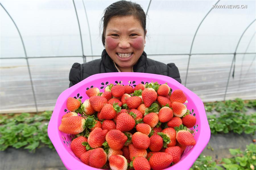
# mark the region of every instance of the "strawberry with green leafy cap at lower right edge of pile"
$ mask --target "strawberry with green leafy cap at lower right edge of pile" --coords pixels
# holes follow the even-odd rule
[[[179,127],[174,127],[176,130],[176,139],[179,144],[183,146],[193,146],[196,144],[196,141],[190,131],[187,130],[187,127],[180,125]]]

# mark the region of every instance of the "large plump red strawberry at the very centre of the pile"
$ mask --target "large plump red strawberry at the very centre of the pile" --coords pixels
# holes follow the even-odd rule
[[[133,117],[127,113],[121,113],[116,119],[116,129],[121,130],[121,132],[128,132],[132,130],[135,126],[135,120]]]

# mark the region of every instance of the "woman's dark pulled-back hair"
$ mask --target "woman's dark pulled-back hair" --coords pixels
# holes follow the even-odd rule
[[[141,22],[144,35],[146,34],[146,14],[141,5],[131,1],[117,1],[104,10],[104,16],[101,18],[101,21],[103,21],[102,43],[104,47],[106,27],[110,19],[114,16],[134,16]]]

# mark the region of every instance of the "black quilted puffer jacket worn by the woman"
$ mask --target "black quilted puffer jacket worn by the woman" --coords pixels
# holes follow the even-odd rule
[[[119,72],[113,60],[109,57],[106,49],[103,50],[101,59],[96,59],[88,63],[74,63],[69,73],[69,87],[79,83],[87,77],[106,72]],[[164,64],[152,59],[148,59],[143,51],[138,62],[133,66],[133,72],[145,72],[160,74],[174,78],[181,83],[179,70],[174,63]]]

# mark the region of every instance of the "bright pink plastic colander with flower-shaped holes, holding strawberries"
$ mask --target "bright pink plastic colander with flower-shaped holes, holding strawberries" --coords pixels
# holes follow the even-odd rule
[[[195,131],[195,146],[188,146],[181,156],[180,161],[167,169],[189,169],[193,165],[210,139],[210,127],[202,100],[185,86],[168,76],[138,72],[113,72],[92,75],[62,92],[57,99],[48,125],[48,135],[67,169],[96,169],[82,163],[80,159],[73,154],[70,148],[70,135],[60,132],[58,129],[61,124],[61,117],[69,112],[66,106],[67,98],[80,98],[81,101],[84,102],[84,100],[89,98],[85,93],[86,90],[92,87],[97,87],[100,89],[100,92],[104,92],[104,88],[111,83],[129,84],[134,87],[136,84],[146,84],[146,82],[152,82],[152,80],[153,82],[158,82],[158,84],[167,82],[173,91],[176,89],[183,90],[187,96],[187,109],[193,112],[192,114],[197,118],[196,125],[190,128]]]

